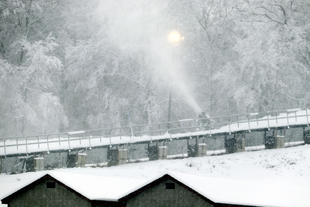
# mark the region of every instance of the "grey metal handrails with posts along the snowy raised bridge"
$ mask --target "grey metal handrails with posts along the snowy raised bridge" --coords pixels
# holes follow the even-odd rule
[[[306,110],[306,115],[297,115],[297,111],[299,110]],[[278,117],[277,114],[278,113],[286,113],[286,117]],[[289,113],[295,113],[294,116],[289,116]],[[275,117],[269,117],[270,114],[275,114]],[[262,118],[258,118],[259,115],[267,115],[267,119],[262,119]],[[246,120],[241,120],[239,121],[239,117],[246,117]],[[250,116],[256,116],[256,119],[250,119]],[[270,112],[260,112],[260,113],[250,113],[250,114],[241,114],[241,115],[229,115],[229,116],[218,116],[218,117],[212,117],[212,118],[198,118],[198,119],[185,119],[185,120],[179,120],[179,121],[171,121],[171,122],[161,122],[161,123],[154,123],[154,124],[139,124],[139,125],[133,125],[132,128],[136,129],[138,128],[139,130],[137,132],[132,132],[133,135],[135,134],[140,134],[140,137],[143,135],[148,135],[150,137],[152,136],[158,136],[158,135],[154,135],[154,133],[159,133],[161,135],[161,133],[163,132],[173,132],[173,131],[177,131],[178,133],[182,133],[182,130],[189,130],[190,133],[192,133],[193,131],[197,131],[196,129],[201,131],[201,128],[205,128],[202,131],[206,131],[206,129],[208,128],[209,134],[211,136],[211,128],[212,130],[215,129],[216,127],[218,129],[220,129],[220,126],[229,126],[229,133],[231,133],[231,129],[230,126],[232,124],[238,124],[238,128],[239,128],[239,124],[242,123],[248,123],[248,130],[250,132],[250,122],[257,122],[257,125],[259,123],[259,121],[268,121],[268,129],[269,129],[269,121],[271,120],[277,120],[278,119],[287,119],[287,127],[289,128],[289,118],[295,118],[297,121],[297,117],[305,117],[307,116],[307,125],[309,125],[308,122],[308,111],[307,108],[303,108],[303,109],[289,109],[289,110],[278,110],[278,111],[270,111]],[[236,117],[237,118],[237,122],[231,122],[231,118]],[[224,119],[223,122],[219,122],[220,119]],[[203,124],[203,123],[210,123],[210,120],[218,120],[218,123],[212,123],[212,124]],[[226,120],[226,121],[225,121]],[[228,122],[227,122],[228,120]],[[195,122],[196,124],[192,124],[193,122]],[[188,126],[182,126],[185,123],[188,123]],[[198,124],[197,124],[198,123]],[[179,127],[173,128],[162,128],[161,129],[161,125],[164,126],[174,126],[174,125],[179,125]],[[141,130],[141,127],[146,127],[148,126],[149,130]],[[91,147],[91,139],[93,138],[99,138],[100,137],[100,142],[101,142],[101,138],[111,138],[111,137],[121,137],[122,136],[128,136],[131,137],[131,132],[129,131],[129,127],[130,126],[123,126],[123,127],[113,127],[113,128],[101,128],[101,129],[91,129],[91,130],[85,130],[85,131],[78,131],[76,134],[79,134],[79,137],[71,137],[70,135],[75,134],[74,132],[62,132],[62,133],[53,133],[53,134],[39,134],[39,135],[28,135],[28,136],[19,136],[19,137],[8,137],[8,138],[0,138],[0,148],[4,147],[4,152],[6,155],[6,147],[11,147],[11,146],[16,146],[17,150],[18,150],[18,146],[22,146],[22,145],[33,145],[33,144],[38,144],[38,147],[40,148],[40,144],[45,144],[47,143],[47,146],[49,147],[49,143],[53,143],[53,142],[59,142],[59,145],[61,142],[69,142],[69,148],[70,148],[70,141],[75,141],[75,140],[85,140],[85,139],[89,139],[89,147]],[[159,128],[159,129],[152,129],[152,128]],[[122,130],[127,129],[128,133],[122,133]],[[101,135],[101,131],[113,131],[113,130],[117,130],[119,131],[119,133],[115,133],[115,134],[111,134],[108,133],[106,135]],[[100,136],[95,136],[92,137],[91,136],[91,132],[99,132]],[[81,134],[84,133],[88,133],[88,137],[87,136],[83,136],[81,137]],[[153,133],[153,134],[152,134]],[[184,132],[183,132],[184,133]],[[55,136],[58,135],[59,140],[48,140],[48,137],[50,136]],[[66,135],[65,138],[63,140],[60,140],[60,135]],[[28,142],[27,143],[27,138],[29,137],[36,137],[37,142]],[[39,139],[39,137],[46,137],[44,139]],[[171,133],[170,133],[170,137],[171,137]],[[26,144],[22,143],[19,144],[18,143],[18,139],[25,139]],[[150,138],[152,140],[152,138]],[[6,140],[16,140],[16,144],[6,144]],[[42,141],[40,141],[42,140]],[[28,140],[29,141],[29,140]],[[27,148],[27,153],[28,153],[28,148]]]

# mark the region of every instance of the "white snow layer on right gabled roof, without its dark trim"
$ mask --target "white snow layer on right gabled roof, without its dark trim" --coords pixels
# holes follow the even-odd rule
[[[250,205],[261,207],[307,207],[310,203],[308,196],[310,188],[268,183],[246,182],[240,180],[222,179],[189,175],[184,173],[167,172],[136,186],[127,192],[139,191],[165,175],[169,175],[197,193],[215,203]],[[125,194],[122,195],[126,196]]]

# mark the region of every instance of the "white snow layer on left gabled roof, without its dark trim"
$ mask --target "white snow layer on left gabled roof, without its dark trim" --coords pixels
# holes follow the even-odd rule
[[[45,175],[50,175],[64,185],[72,188],[74,191],[85,196],[89,200],[106,200],[117,201],[120,196],[130,191],[132,188],[141,185],[145,180],[125,179],[125,178],[110,178],[93,175],[81,175],[73,173],[48,172],[40,174],[35,179],[25,183],[19,188],[8,192],[2,198],[5,198],[16,191],[28,186],[34,181],[42,178]]]

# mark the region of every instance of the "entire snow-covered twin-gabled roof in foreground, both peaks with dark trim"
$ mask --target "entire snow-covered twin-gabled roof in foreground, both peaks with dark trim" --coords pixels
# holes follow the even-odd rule
[[[6,195],[2,196],[2,198],[15,193],[47,174],[89,200],[118,201],[168,175],[215,203],[261,207],[306,207],[310,203],[310,197],[308,196],[310,188],[306,187],[290,186],[285,183],[283,183],[283,185],[277,185],[210,178],[176,172],[162,173],[146,182],[145,180],[72,173],[39,173],[37,178],[8,192]]]

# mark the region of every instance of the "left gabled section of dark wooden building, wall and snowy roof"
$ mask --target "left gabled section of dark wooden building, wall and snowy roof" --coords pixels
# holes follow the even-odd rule
[[[144,180],[108,178],[71,173],[48,173],[3,198],[8,207],[124,206],[119,196]]]

